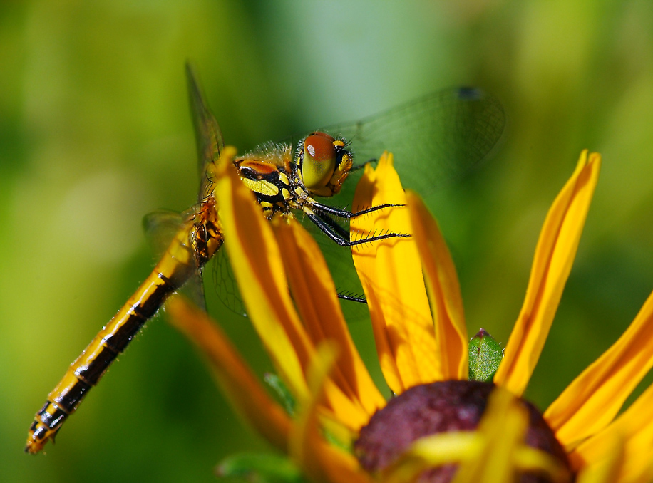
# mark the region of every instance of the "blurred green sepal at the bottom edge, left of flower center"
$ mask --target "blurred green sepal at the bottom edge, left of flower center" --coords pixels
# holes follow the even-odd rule
[[[240,453],[222,459],[215,467],[220,478],[236,478],[248,483],[304,483],[299,469],[287,457],[272,453]]]

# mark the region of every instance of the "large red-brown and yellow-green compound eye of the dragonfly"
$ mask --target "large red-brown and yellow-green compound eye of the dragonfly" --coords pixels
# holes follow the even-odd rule
[[[302,179],[309,190],[318,190],[331,180],[337,162],[334,138],[325,133],[313,133],[304,140]]]

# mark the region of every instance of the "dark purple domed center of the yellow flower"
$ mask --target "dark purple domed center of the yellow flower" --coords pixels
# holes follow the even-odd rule
[[[356,457],[367,471],[379,472],[406,452],[415,440],[441,432],[475,430],[494,387],[478,381],[448,380],[406,390],[376,412],[361,429],[354,443]],[[565,450],[540,412],[530,402],[522,402],[530,416],[525,443],[549,453],[569,469]],[[431,469],[418,482],[450,482],[456,468],[456,464],[446,464]],[[540,483],[547,479],[523,474],[518,481]]]

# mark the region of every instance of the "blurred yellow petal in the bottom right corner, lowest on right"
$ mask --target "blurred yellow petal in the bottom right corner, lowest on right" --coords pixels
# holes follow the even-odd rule
[[[597,415],[598,416],[598,415]],[[578,445],[570,455],[575,468],[605,464],[615,440],[623,440],[624,463],[617,482],[653,478],[653,385],[604,430]]]

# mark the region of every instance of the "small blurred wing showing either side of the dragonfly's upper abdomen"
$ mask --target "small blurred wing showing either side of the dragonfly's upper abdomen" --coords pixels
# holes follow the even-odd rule
[[[178,229],[182,226],[185,215],[178,212],[160,209],[156,212],[148,213],[143,217],[143,230],[145,237],[150,243],[155,256],[160,259],[168,249],[170,241],[173,240]],[[182,294],[190,298],[196,306],[205,308],[206,300],[204,296],[204,284],[202,282],[202,271],[197,269],[195,275],[180,289]]]

